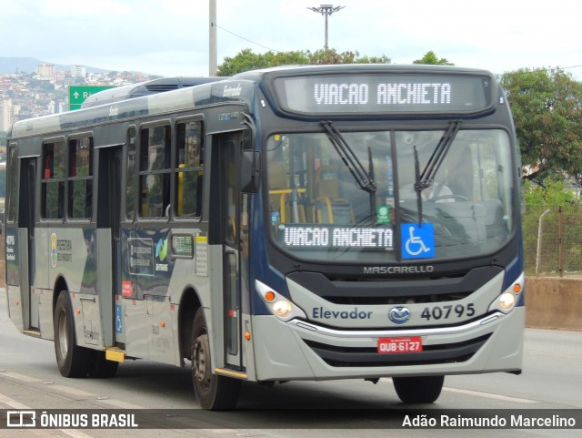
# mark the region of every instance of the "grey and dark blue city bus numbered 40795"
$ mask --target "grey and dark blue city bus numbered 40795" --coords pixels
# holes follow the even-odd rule
[[[242,382],[391,378],[427,403],[446,375],[521,372],[520,158],[491,73],[282,66],[104,100],[7,139],[9,316],[63,376],[188,367],[222,410]]]

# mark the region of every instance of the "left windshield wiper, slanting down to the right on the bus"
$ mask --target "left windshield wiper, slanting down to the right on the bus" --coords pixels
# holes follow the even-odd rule
[[[372,220],[376,222],[376,182],[374,181],[374,164],[372,160],[372,151],[368,148],[368,167],[369,172],[364,168],[362,162],[356,157],[354,149],[346,142],[346,138],[342,136],[341,132],[334,126],[331,121],[322,120],[321,125],[326,129],[327,137],[331,144],[336,148],[337,155],[342,158],[346,167],[356,180],[356,186],[365,190],[370,194],[370,212],[372,213]]]

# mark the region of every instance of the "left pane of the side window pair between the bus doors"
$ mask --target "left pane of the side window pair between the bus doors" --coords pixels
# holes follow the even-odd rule
[[[167,217],[170,204],[170,127],[141,130],[139,181],[142,217]]]

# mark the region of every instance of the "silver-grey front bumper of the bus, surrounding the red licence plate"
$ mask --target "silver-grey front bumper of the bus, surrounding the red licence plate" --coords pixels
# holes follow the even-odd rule
[[[331,329],[313,322],[253,317],[256,380],[331,380],[519,372],[525,308],[467,324],[411,330]],[[423,351],[377,352],[379,338],[420,336]]]

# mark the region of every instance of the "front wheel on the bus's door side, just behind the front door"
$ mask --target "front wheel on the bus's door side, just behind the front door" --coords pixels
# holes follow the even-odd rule
[[[200,406],[209,410],[235,408],[242,382],[212,372],[208,328],[202,308],[194,317],[191,359],[192,383]]]

